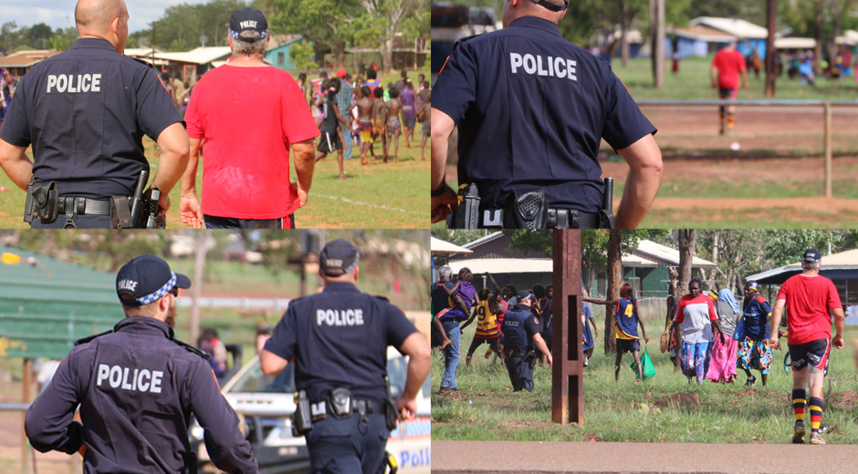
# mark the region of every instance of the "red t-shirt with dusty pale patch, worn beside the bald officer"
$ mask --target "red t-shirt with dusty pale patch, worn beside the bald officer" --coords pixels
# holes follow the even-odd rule
[[[298,209],[289,149],[319,129],[288,72],[217,67],[194,87],[185,120],[188,137],[204,139],[204,214],[280,219]]]

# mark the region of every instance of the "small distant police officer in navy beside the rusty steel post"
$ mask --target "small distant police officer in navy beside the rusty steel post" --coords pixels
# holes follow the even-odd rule
[[[533,362],[536,351],[539,350],[548,361],[549,366],[554,359],[551,357],[548,345],[539,332],[542,325],[539,316],[530,313],[533,295],[527,290],[521,290],[517,295],[517,304],[507,311],[504,316],[504,352],[512,391],[522,389],[533,391]]]

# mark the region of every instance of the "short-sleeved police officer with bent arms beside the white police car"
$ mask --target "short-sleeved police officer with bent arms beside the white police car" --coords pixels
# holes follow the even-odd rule
[[[312,472],[383,469],[391,432],[385,419],[388,345],[410,357],[403,394],[392,412],[413,417],[415,397],[429,374],[424,335],[402,310],[355,287],[359,257],[349,242],[325,245],[319,253],[324,291],[289,304],[259,359],[262,372],[275,376],[294,357],[295,384],[306,392],[313,413],[305,435]]]

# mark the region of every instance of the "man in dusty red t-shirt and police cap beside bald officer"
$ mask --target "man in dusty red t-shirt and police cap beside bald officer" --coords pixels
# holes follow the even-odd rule
[[[196,229],[294,228],[294,212],[307,203],[319,129],[295,79],[263,62],[267,27],[262,12],[236,11],[229,20],[232,60],[194,87],[179,210]],[[196,170],[203,143],[201,206]],[[290,146],[296,182],[289,180]]]

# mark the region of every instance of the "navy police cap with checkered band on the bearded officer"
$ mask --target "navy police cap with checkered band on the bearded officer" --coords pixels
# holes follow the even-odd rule
[[[190,288],[191,279],[152,253],[131,259],[116,274],[116,293],[126,306],[153,303],[175,287]]]

